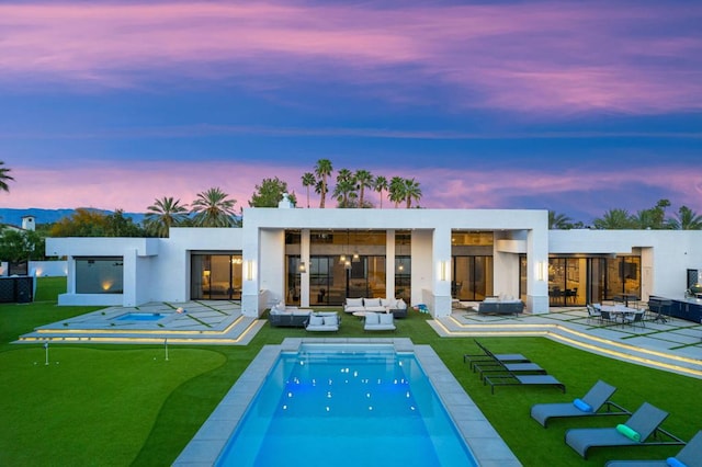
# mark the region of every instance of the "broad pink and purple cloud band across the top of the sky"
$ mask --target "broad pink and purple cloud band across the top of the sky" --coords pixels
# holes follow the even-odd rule
[[[331,81],[544,116],[699,111],[701,21],[702,7],[684,1],[4,4],[0,82],[217,80],[270,92]]]

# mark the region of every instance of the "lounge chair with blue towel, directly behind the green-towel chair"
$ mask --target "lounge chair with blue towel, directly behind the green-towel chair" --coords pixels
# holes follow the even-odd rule
[[[566,417],[593,417],[593,415],[631,415],[631,412],[616,403],[608,400],[616,390],[614,386],[599,380],[582,396],[573,402],[536,403],[531,408],[531,417],[544,428],[550,419]],[[603,407],[607,411],[600,411]],[[615,411],[612,411],[614,407]]]

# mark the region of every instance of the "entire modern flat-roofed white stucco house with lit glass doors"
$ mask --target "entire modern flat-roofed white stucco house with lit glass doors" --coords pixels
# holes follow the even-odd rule
[[[241,300],[342,305],[405,298],[432,315],[486,296],[550,306],[682,296],[700,281],[702,231],[548,230],[532,209],[244,209],[242,228],[173,228],[169,238],[49,238],[67,257],[59,305]],[[455,305],[455,304],[454,304]]]

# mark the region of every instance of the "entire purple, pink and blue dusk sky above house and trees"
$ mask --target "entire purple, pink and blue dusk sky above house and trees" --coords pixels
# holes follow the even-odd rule
[[[273,176],[305,206],[326,158],[423,207],[702,214],[700,24],[681,0],[3,2],[0,207],[241,207]]]

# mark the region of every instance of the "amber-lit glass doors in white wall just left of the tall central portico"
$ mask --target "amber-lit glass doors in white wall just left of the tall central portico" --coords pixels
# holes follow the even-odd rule
[[[241,299],[241,253],[194,253],[191,263],[192,299]]]

